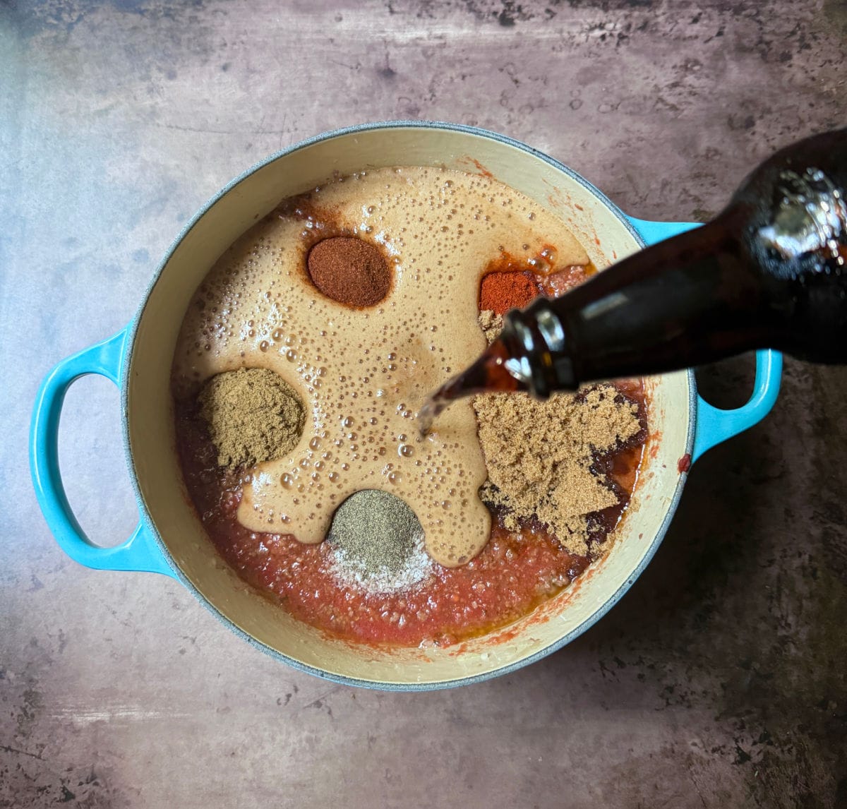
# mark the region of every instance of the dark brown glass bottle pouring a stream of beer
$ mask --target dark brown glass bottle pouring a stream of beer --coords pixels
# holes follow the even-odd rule
[[[757,348],[847,363],[845,196],[847,130],[783,149],[708,224],[507,313],[501,336],[422,418],[479,391],[545,397]]]

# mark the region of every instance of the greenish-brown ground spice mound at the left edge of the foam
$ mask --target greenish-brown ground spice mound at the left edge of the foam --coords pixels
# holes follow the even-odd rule
[[[306,411],[294,388],[268,368],[213,376],[197,401],[220,466],[235,468],[282,457],[303,433]]]

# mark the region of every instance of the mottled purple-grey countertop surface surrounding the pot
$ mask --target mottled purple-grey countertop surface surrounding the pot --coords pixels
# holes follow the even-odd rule
[[[80,568],[26,434],[53,363],[122,327],[197,208],[321,130],[515,136],[628,213],[705,219],[847,123],[841,0],[0,0],[0,806],[847,806],[847,371],[695,465],[655,561],[571,646],[460,690],[293,672],[175,581]],[[750,363],[700,374],[740,402]],[[95,540],[136,520],[118,394],[61,435]]]

